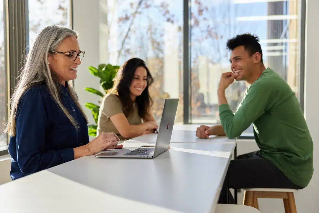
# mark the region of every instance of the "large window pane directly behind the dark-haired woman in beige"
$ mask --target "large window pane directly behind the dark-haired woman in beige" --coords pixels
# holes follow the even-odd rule
[[[132,57],[145,60],[154,84],[150,88],[159,121],[164,99],[179,98],[176,122],[183,121],[182,0],[109,0],[104,31],[104,63],[122,66]]]

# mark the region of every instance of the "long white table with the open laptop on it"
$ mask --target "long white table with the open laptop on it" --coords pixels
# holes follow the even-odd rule
[[[135,141],[124,146],[152,144]],[[234,147],[213,137],[154,159],[85,156],[1,185],[0,212],[214,212]]]

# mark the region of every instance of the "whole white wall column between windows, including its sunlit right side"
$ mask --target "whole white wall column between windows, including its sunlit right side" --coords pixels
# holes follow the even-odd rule
[[[107,20],[106,9],[108,0],[76,0],[73,1],[73,26],[79,32],[80,49],[85,51],[85,56],[78,66],[78,77],[74,80],[75,91],[79,102],[84,108],[89,124],[95,124],[91,110],[87,109],[86,102],[100,105],[100,96],[93,95],[84,90],[84,87],[93,87],[103,92],[100,79],[93,76],[89,66],[98,67],[99,64],[108,64]],[[113,32],[114,34],[114,32]],[[90,140],[94,137],[90,136]]]

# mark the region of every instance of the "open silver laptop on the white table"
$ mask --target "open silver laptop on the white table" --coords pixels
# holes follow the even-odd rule
[[[169,148],[169,144],[171,142],[178,101],[178,98],[165,99],[155,146],[110,149],[103,151],[102,153],[98,153],[95,156],[108,158],[154,158],[165,152]]]

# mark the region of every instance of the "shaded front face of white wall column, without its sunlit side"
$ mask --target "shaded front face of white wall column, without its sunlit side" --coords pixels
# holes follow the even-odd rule
[[[90,94],[84,87],[100,89],[99,78],[93,76],[89,66],[97,67],[100,62],[99,48],[99,1],[76,0],[73,1],[73,26],[79,32],[80,49],[85,51],[85,56],[78,66],[78,77],[74,80],[75,91],[80,104],[85,109],[85,114],[89,118],[89,124],[93,124],[93,116],[84,103],[92,102],[100,105],[99,96]]]

